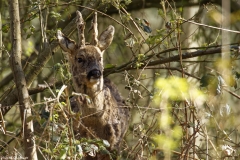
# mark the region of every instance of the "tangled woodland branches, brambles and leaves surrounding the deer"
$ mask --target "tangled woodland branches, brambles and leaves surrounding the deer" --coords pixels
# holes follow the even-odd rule
[[[23,0],[20,21],[14,2],[0,2],[0,158],[239,159],[238,1]],[[56,31],[77,39],[76,10],[86,28],[97,11],[100,32],[116,29],[104,75],[131,111],[119,153],[73,136],[82,117]]]

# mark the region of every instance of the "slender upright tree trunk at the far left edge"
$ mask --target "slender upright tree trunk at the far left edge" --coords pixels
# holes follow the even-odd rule
[[[9,0],[9,5],[12,42],[10,65],[12,67],[14,81],[18,93],[18,101],[23,126],[22,131],[25,158],[35,160],[37,159],[37,153],[33,134],[33,122],[32,120],[27,121],[28,117],[30,117],[32,114],[27,83],[21,63],[22,47],[18,0]]]

